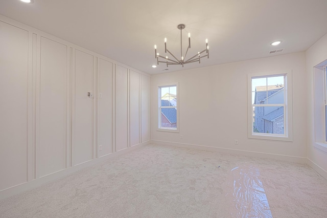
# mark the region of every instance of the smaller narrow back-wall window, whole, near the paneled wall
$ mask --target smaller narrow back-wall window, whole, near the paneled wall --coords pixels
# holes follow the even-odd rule
[[[178,131],[178,85],[158,86],[158,130]]]

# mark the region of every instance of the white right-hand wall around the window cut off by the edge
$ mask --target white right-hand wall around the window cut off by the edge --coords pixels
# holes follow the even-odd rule
[[[306,73],[307,73],[307,92],[309,93],[307,98],[308,105],[308,159],[309,164],[316,169],[322,176],[327,178],[327,148],[324,150],[319,149],[319,146],[316,147],[316,136],[319,127],[315,126],[315,116],[316,119],[323,119],[322,113],[320,114],[320,118],[318,116],[319,108],[314,108],[314,98],[317,95],[314,95],[314,90],[318,88],[320,85],[322,88],[322,83],[318,84],[319,81],[314,81],[314,75],[317,77],[321,77],[321,75],[317,75],[317,72],[314,73],[314,67],[317,64],[325,61],[327,59],[327,35],[321,37],[313,46],[311,46],[306,51]],[[322,72],[321,72],[322,73]],[[320,81],[321,82],[321,81]],[[316,85],[316,86],[314,86]],[[320,92],[323,92],[321,89]],[[320,108],[321,110],[322,108]],[[316,127],[316,128],[315,128]],[[321,134],[322,135],[322,134]],[[318,137],[318,136],[317,136]],[[318,137],[319,138],[319,137]]]

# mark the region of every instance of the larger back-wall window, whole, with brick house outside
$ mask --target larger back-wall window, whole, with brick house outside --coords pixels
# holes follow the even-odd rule
[[[248,137],[292,141],[290,72],[248,75]]]

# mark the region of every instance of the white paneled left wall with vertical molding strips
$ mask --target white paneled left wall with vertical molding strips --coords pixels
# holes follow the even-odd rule
[[[0,38],[0,199],[149,143],[148,74],[2,15]]]

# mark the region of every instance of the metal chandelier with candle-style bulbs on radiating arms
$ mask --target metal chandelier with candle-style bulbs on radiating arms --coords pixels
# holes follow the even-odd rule
[[[168,50],[168,48],[167,48],[167,38],[165,38],[165,53],[168,52],[169,54],[171,54],[171,56],[173,56],[174,59],[169,58],[168,56],[164,57],[164,56],[159,55],[159,53],[157,53],[157,46],[154,45],[154,53],[155,53],[155,58],[157,59],[157,65],[159,65],[159,63],[166,63],[167,67],[168,67],[168,65],[181,65],[182,67],[184,67],[184,64],[186,64],[186,63],[193,63],[193,62],[201,63],[201,58],[203,58],[203,57],[209,58],[208,39],[205,39],[205,49],[203,51],[201,51],[201,52],[198,52],[196,55],[190,57],[189,59],[185,60],[189,49],[191,49],[191,34],[189,33],[189,46],[188,46],[188,49],[186,49],[185,55],[182,56],[182,29],[185,28],[185,25],[180,24],[180,25],[177,26],[177,28],[180,30],[180,59],[178,59],[175,55],[173,55]],[[203,52],[205,52],[206,54],[201,56],[201,54]]]

